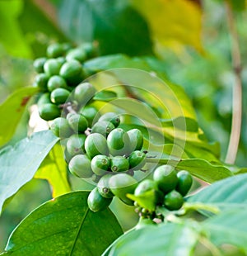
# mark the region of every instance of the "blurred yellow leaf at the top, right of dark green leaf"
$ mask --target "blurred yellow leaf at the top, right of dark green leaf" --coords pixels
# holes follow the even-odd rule
[[[146,17],[156,47],[168,46],[175,51],[192,45],[201,51],[202,12],[188,0],[131,0]]]

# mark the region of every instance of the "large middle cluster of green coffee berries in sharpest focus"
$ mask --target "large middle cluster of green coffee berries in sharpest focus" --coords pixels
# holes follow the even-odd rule
[[[146,164],[142,132],[119,128],[120,119],[114,112],[100,116],[91,129],[84,119],[82,114],[68,113],[67,118],[56,118],[51,130],[58,136],[63,133],[63,138],[65,133],[70,135],[66,142],[69,171],[78,178],[91,178],[97,183],[88,197],[88,206],[91,211],[102,211],[114,196],[133,205],[126,194],[137,186],[134,172]],[[71,135],[72,130],[78,134]]]

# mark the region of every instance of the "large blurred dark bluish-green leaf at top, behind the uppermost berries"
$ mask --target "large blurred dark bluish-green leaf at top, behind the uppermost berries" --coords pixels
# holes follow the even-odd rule
[[[58,11],[63,31],[79,43],[98,41],[101,55],[152,53],[147,23],[126,1],[63,0]]]

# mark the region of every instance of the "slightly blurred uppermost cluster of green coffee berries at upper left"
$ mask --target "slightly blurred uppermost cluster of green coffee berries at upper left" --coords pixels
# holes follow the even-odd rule
[[[86,78],[84,61],[96,56],[96,51],[96,47],[89,43],[76,48],[55,43],[48,46],[47,56],[35,59],[34,68],[38,74],[34,85],[43,92],[38,102],[41,118],[50,121],[61,116],[61,105],[68,101],[72,90]]]

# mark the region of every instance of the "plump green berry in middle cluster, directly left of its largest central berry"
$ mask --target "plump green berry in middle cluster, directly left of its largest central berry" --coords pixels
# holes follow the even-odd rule
[[[88,135],[85,140],[86,153],[92,158],[97,154],[109,154],[106,139],[99,133],[92,133]]]

